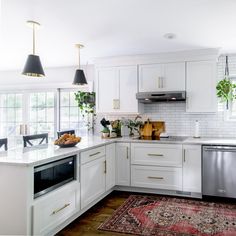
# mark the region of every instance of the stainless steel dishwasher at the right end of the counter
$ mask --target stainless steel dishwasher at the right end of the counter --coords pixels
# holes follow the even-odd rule
[[[203,195],[236,198],[236,146],[203,146]]]

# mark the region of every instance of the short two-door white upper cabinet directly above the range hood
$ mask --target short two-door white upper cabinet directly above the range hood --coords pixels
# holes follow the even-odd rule
[[[185,91],[185,62],[139,66],[139,92]]]

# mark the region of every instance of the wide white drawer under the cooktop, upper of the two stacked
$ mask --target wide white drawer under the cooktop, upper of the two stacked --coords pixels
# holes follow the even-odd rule
[[[132,144],[131,163],[182,167],[181,144]]]

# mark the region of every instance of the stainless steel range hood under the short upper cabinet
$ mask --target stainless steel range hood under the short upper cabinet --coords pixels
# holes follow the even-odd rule
[[[141,103],[185,101],[185,91],[140,92],[136,98]]]

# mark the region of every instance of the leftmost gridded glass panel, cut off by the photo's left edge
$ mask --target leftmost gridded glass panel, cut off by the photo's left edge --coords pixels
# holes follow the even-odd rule
[[[0,135],[15,136],[23,122],[23,94],[0,94]]]

